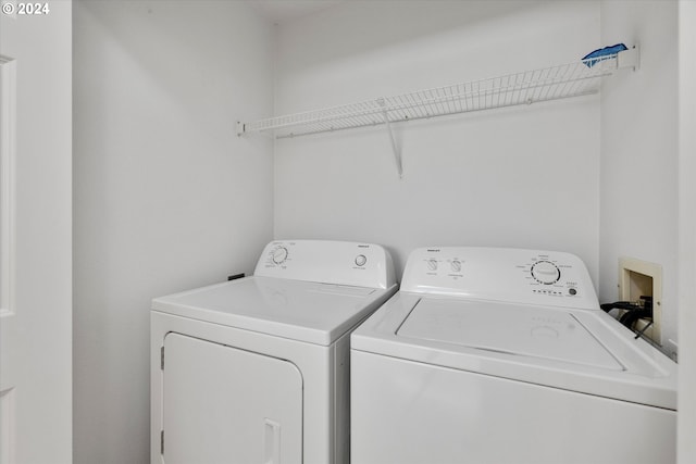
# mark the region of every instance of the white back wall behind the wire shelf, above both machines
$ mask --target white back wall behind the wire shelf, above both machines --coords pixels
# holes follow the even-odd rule
[[[599,3],[346,2],[278,29],[276,114],[576,61]],[[571,251],[597,278],[599,99],[587,97],[275,145],[275,237],[410,250]]]

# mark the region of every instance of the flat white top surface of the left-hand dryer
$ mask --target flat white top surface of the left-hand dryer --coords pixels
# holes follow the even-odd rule
[[[247,277],[152,300],[152,310],[328,346],[396,291]]]

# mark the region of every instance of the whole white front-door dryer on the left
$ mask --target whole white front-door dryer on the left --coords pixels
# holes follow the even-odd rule
[[[288,240],[154,299],[151,462],[348,463],[350,331],[396,288],[380,246]]]

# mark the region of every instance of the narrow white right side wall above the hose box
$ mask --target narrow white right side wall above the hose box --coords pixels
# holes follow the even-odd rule
[[[618,299],[619,256],[662,266],[662,341],[676,341],[678,47],[675,1],[604,1],[601,41],[639,43],[641,68],[601,92],[599,297]]]

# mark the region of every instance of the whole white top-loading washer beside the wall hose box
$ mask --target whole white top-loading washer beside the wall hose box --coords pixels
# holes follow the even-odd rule
[[[424,248],[351,336],[353,464],[675,462],[676,365],[560,252]]]

